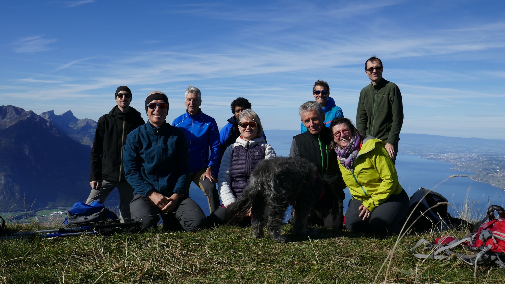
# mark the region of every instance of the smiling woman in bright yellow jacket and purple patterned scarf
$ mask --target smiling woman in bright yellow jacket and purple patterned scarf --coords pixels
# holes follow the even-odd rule
[[[394,234],[409,211],[409,196],[400,186],[385,142],[363,137],[346,118],[330,125],[340,172],[352,199],[345,212],[345,228],[351,232]]]

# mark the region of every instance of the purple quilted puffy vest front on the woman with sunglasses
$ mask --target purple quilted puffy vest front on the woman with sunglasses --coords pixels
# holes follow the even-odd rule
[[[240,197],[249,185],[249,177],[256,165],[265,158],[265,147],[256,144],[246,149],[242,145],[233,148],[231,157],[231,188]]]

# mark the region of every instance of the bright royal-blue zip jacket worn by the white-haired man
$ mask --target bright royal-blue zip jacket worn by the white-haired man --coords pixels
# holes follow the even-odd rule
[[[217,177],[219,173],[220,145],[216,120],[201,112],[201,110],[194,117],[186,111],[182,116],[176,118],[172,125],[186,134],[191,173],[212,165],[214,166],[214,176]],[[209,147],[211,148],[210,158]]]

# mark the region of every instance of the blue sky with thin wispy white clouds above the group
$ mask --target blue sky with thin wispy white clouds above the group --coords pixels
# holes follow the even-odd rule
[[[503,1],[3,1],[0,25],[0,105],[97,120],[128,85],[141,112],[167,93],[172,122],[192,84],[220,128],[243,96],[297,130],[318,79],[355,121],[376,54],[403,133],[505,139]]]

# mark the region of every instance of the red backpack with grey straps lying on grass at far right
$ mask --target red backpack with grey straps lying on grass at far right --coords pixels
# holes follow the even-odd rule
[[[498,212],[498,218],[495,218],[494,211]],[[488,218],[489,221],[486,222]],[[428,250],[429,253],[415,253],[415,250],[424,244],[427,245],[422,250]],[[458,246],[475,254],[458,254],[450,251],[450,249]],[[462,239],[445,236],[436,239],[433,243],[419,240],[411,248],[411,251],[415,257],[419,258],[445,259],[456,256],[466,263],[474,265],[475,272],[477,271],[477,265],[483,263],[493,263],[500,268],[505,268],[505,210],[501,206],[491,205],[487,209],[486,217],[476,223],[472,227],[471,233]]]

